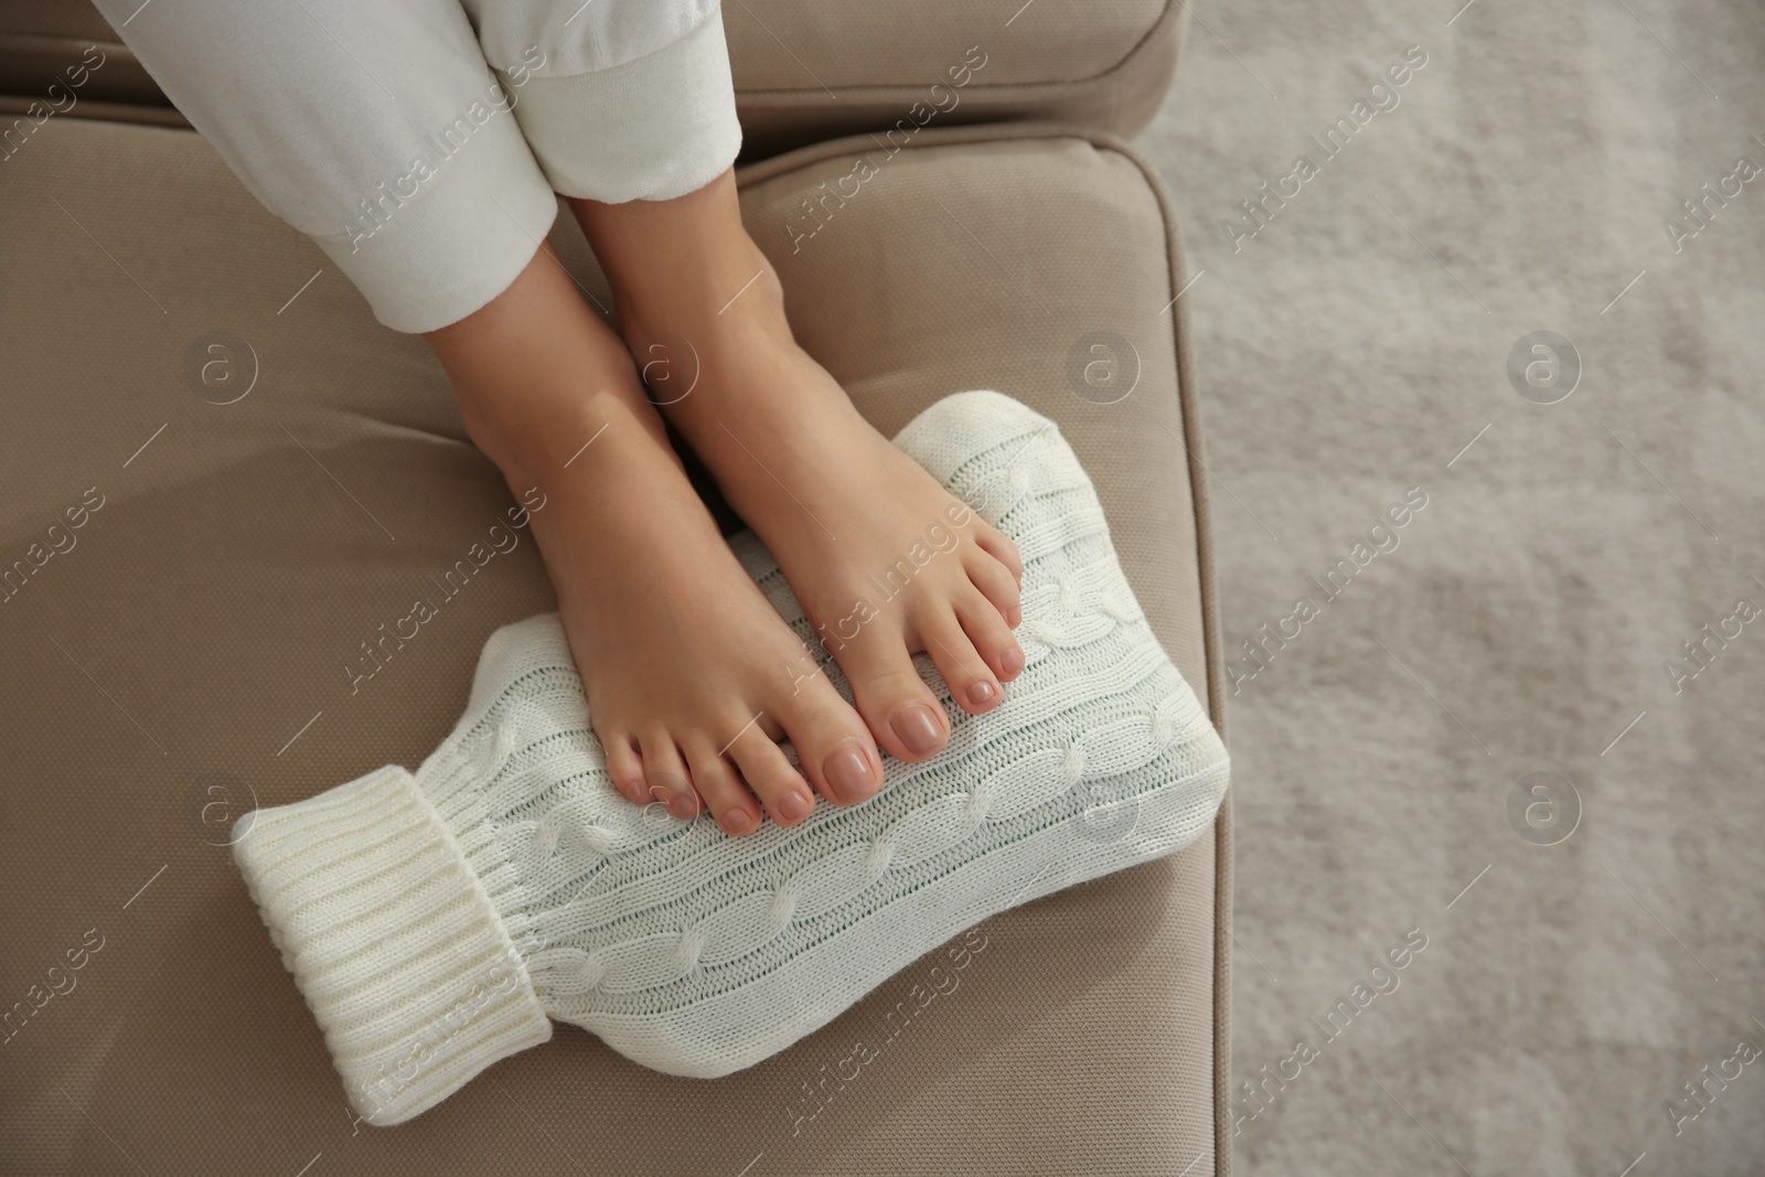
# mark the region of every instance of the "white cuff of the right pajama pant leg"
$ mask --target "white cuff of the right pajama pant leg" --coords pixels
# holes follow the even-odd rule
[[[503,83],[515,86],[508,74]],[[517,94],[515,120],[561,196],[674,199],[720,176],[741,150],[722,12],[655,53],[528,78]]]

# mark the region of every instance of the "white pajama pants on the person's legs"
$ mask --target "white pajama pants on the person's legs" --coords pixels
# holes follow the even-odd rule
[[[554,192],[671,199],[741,146],[718,0],[95,4],[399,332],[508,289]]]

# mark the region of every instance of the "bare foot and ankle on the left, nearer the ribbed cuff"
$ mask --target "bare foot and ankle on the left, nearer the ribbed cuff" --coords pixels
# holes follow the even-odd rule
[[[724,542],[623,342],[551,247],[427,339],[478,448],[517,496],[545,496],[533,535],[620,791],[676,817],[702,799],[732,835],[757,829],[762,805],[801,822],[810,783],[835,803],[872,796],[882,766],[863,720],[824,674],[803,674],[808,651]]]

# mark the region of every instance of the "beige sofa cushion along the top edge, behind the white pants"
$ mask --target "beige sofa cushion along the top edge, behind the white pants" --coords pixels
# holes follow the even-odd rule
[[[1186,4],[1031,0],[1015,14],[1010,7],[729,0],[724,32],[743,157],[897,125],[909,134],[1043,118],[1131,134],[1153,118],[1183,48]],[[0,0],[0,94],[42,97],[94,41],[106,62],[79,101],[104,104],[113,118],[176,118],[86,0]]]

